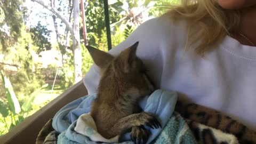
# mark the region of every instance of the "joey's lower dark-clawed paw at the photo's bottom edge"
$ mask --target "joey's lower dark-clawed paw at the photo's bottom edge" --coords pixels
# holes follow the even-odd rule
[[[149,134],[150,132],[145,130],[143,126],[133,126],[130,137],[135,144],[145,144],[148,141]]]

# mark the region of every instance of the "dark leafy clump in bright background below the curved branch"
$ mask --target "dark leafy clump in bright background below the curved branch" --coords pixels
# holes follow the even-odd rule
[[[37,53],[44,50],[51,50],[51,43],[49,42],[49,36],[52,31],[48,30],[46,26],[42,26],[40,22],[37,23],[36,27],[30,28],[31,38],[33,39],[33,44],[39,49]]]

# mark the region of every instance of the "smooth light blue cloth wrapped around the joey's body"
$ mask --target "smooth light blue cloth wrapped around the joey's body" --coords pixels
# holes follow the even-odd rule
[[[96,94],[87,95],[79,98],[65,107],[61,108],[58,113],[53,117],[52,126],[60,132],[62,136],[65,135],[65,139],[69,139],[78,143],[95,143],[90,141],[88,137],[78,134],[74,131],[76,120],[82,114],[89,113],[92,101],[95,99]],[[175,104],[177,102],[177,93],[165,90],[156,90],[149,97],[145,97],[140,101],[140,106],[143,111],[155,115],[162,126],[164,127],[169,121]],[[149,129],[149,127],[146,127]],[[151,135],[148,142],[153,141],[162,129],[149,129]],[[63,132],[63,133],[62,133]],[[59,137],[58,141],[62,141],[64,137]],[[126,141],[122,143],[130,143],[130,133],[124,134],[119,141]],[[59,143],[59,142],[58,142]]]

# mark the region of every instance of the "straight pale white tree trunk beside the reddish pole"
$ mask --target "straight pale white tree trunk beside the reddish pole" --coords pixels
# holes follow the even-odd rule
[[[79,0],[73,1],[73,54],[74,54],[74,68],[75,68],[75,83],[82,79],[82,51],[80,46],[80,34],[79,34]]]

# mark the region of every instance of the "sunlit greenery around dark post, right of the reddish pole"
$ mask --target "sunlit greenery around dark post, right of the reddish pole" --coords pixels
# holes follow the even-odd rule
[[[174,3],[174,1],[178,2],[178,0],[164,0],[164,1],[151,1],[151,0],[116,0],[111,1],[112,3],[109,4],[109,18],[111,26],[111,36],[116,35],[116,33],[120,33],[119,30],[123,30],[123,35],[121,37],[117,37],[118,39],[127,38],[132,31],[138,26],[137,19],[140,19],[140,13],[150,9],[151,7],[149,4],[151,2],[155,3],[155,8],[150,10],[148,16],[156,16],[163,14],[165,12],[163,6],[159,7],[159,5],[167,5],[170,3]],[[156,12],[156,10],[158,12]],[[89,1],[86,5],[86,28],[87,28],[87,42],[89,45],[95,47],[101,47],[103,42],[102,38],[105,38],[105,15],[102,13],[103,9],[103,2],[102,0],[94,0]],[[140,12],[140,13],[138,13]],[[95,25],[97,23],[97,25]],[[126,26],[126,28],[123,28]],[[119,29],[117,29],[119,28]],[[81,29],[81,37],[82,29]],[[114,38],[111,38],[112,42]],[[116,38],[115,38],[116,39]],[[115,40],[114,41],[118,41]],[[122,42],[122,41],[119,41]],[[114,43],[112,45],[117,45],[119,43]],[[104,44],[105,45],[105,44]]]

